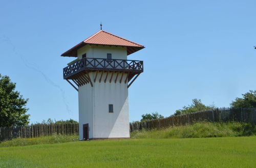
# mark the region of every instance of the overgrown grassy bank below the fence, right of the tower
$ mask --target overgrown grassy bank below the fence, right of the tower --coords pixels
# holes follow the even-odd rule
[[[141,130],[131,133],[132,138],[195,138],[250,135],[256,135],[255,126],[238,122],[200,122],[193,125],[175,126],[160,130]]]

